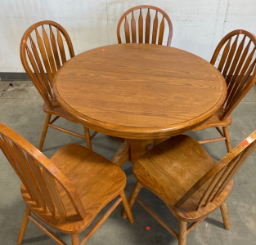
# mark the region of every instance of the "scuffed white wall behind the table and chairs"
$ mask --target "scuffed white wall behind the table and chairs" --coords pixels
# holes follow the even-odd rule
[[[20,38],[40,20],[53,20],[70,34],[75,54],[117,43],[116,26],[130,7],[163,9],[173,22],[172,47],[210,60],[234,29],[256,34],[255,0],[0,0],[0,72],[24,72]]]

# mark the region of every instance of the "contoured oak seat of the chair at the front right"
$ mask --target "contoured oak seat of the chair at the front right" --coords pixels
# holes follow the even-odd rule
[[[133,174],[141,185],[159,196],[179,220],[194,222],[217,209],[231,192],[233,184],[228,185],[217,201],[209,203],[207,208],[200,207],[196,211],[207,185],[203,185],[181,207],[174,205],[215,164],[217,162],[196,140],[181,135],[164,141],[138,158]]]

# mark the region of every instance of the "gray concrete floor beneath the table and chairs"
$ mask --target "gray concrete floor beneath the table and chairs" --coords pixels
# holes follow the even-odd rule
[[[38,147],[46,117],[42,109],[43,100],[31,82],[16,81],[11,83],[13,87],[9,85],[10,82],[0,82],[1,122]],[[238,105],[232,115],[234,120],[231,127],[229,127],[229,131],[232,147],[235,147],[256,129],[256,86],[249,91],[249,94]],[[64,119],[59,119],[56,124],[83,134],[82,126],[67,122]],[[209,129],[189,133],[189,135],[199,140],[218,137],[218,132],[214,129]],[[86,145],[85,140],[49,128],[43,147],[43,154],[50,158],[57,149],[70,143]],[[115,150],[118,149],[119,145],[119,142],[103,134],[97,134],[92,140],[93,150],[108,159],[115,154]],[[227,154],[224,141],[204,145],[204,148],[216,160],[220,160]],[[256,152],[252,154],[236,176],[234,188],[227,198],[231,229],[224,229],[221,213],[217,210],[187,236],[188,245],[252,245],[256,243],[255,160]],[[132,176],[132,163],[125,163],[122,168],[127,174],[125,191],[129,197],[135,185],[135,178]],[[20,180],[2,152],[0,153],[0,172],[0,243],[6,245],[16,244],[25,203],[20,195]],[[146,200],[146,203],[154,208],[160,216],[164,217],[164,220],[173,229],[178,230],[178,221],[159,198],[146,189],[141,190],[140,197],[142,200]],[[102,213],[106,211],[106,208],[92,222],[92,225],[97,222]],[[121,217],[122,210],[123,207],[119,205],[87,244],[177,244],[177,240],[138,203],[135,203],[132,208],[132,214],[135,219],[133,225],[128,220],[123,220]],[[150,226],[150,230],[146,230],[146,226]],[[80,238],[87,232],[88,229],[80,235]],[[59,232],[56,234],[60,235],[65,243],[71,244],[70,235]],[[23,243],[31,245],[56,244],[31,222],[29,222]]]

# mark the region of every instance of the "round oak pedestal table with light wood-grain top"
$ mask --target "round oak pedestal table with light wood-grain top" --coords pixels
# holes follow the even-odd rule
[[[206,60],[174,47],[118,44],[74,56],[56,73],[56,100],[78,122],[128,140],[134,162],[155,140],[191,131],[227,86]]]

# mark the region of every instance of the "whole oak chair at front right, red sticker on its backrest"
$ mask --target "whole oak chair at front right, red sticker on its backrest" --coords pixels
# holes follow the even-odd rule
[[[178,239],[179,245],[185,245],[186,234],[218,207],[226,229],[230,229],[225,200],[233,187],[234,176],[255,148],[256,131],[217,163],[190,136],[174,136],[150,149],[134,163],[133,175],[137,183],[128,203],[132,208],[136,199]],[[161,198],[180,220],[179,234],[137,198],[143,186]],[[192,222],[188,228],[187,222]]]

